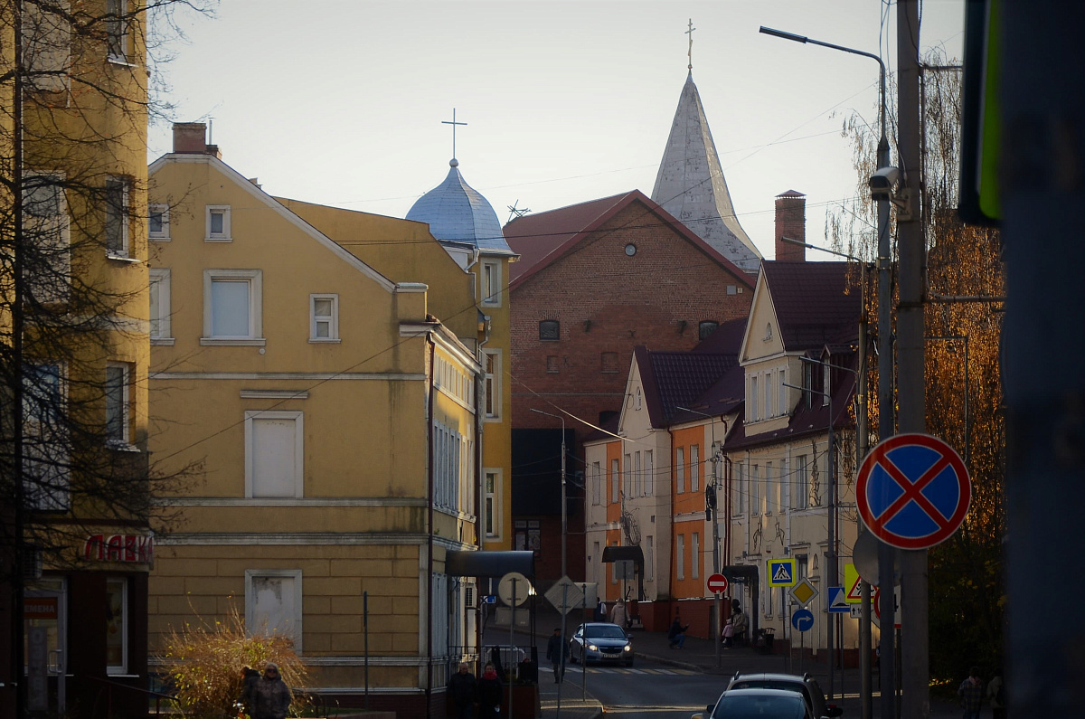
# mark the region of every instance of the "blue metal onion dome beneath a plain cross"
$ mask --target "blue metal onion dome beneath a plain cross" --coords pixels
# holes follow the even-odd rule
[[[448,164],[448,177],[418,199],[407,219],[427,223],[438,240],[468,242],[483,252],[515,254],[505,241],[494,207],[463,181],[459,162],[454,159]]]

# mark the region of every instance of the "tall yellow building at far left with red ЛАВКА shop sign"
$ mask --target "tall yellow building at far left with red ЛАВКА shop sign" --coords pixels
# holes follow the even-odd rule
[[[0,643],[27,657],[0,657],[0,717],[90,716],[107,686],[115,710],[146,707],[125,689],[146,684],[153,559],[144,8],[72,4],[0,3],[2,391],[23,420],[21,441],[8,420],[0,438],[3,521],[23,548],[0,559],[0,614],[15,618]]]

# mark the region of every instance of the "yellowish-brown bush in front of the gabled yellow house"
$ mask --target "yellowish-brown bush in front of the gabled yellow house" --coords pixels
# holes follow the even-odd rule
[[[250,636],[237,609],[225,623],[216,620],[212,626],[200,619],[180,632],[170,628],[164,659],[178,703],[188,715],[234,716],[242,668],[263,672],[269,661],[279,665],[279,676],[294,693],[291,714],[297,716],[308,704],[298,688],[308,686],[309,676],[294,653],[293,640],[267,628]]]

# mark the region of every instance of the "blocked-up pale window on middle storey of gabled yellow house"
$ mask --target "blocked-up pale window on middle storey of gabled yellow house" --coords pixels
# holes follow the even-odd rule
[[[301,412],[245,413],[245,496],[304,496]]]

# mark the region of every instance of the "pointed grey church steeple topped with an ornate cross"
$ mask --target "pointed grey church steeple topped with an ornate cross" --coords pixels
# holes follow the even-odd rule
[[[691,22],[690,31],[692,27]],[[692,37],[690,71],[678,98],[652,200],[725,257],[754,274],[762,255],[735,216],[716,143],[693,84]]]

